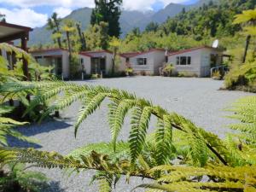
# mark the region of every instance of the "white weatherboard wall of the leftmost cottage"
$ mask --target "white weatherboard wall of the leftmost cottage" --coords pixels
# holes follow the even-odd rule
[[[69,65],[69,59],[68,59],[68,51],[67,50],[62,50],[62,49],[55,49],[55,50],[44,50],[44,51],[38,51],[38,52],[32,52],[31,53],[33,57],[38,57],[41,56],[42,59],[39,59],[40,64],[42,65],[51,65],[49,59],[47,57],[49,56],[60,56],[61,57],[61,63],[62,63],[62,74],[64,79],[69,78],[69,70],[70,70],[70,65]],[[45,57],[45,58],[44,58]]]

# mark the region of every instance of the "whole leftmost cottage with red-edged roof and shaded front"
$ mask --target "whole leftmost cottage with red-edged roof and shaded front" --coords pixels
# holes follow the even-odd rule
[[[42,66],[54,66],[56,76],[69,79],[70,64],[67,49],[38,49],[30,51],[30,54]]]

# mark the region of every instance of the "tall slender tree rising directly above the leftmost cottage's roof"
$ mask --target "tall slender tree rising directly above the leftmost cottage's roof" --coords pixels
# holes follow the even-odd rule
[[[57,39],[59,48],[62,48],[61,44],[61,18],[58,18],[56,13],[53,13],[47,21],[47,29],[52,31],[52,38]]]

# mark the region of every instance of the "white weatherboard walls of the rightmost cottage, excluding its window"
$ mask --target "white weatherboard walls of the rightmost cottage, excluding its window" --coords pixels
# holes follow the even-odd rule
[[[172,63],[175,67],[175,71],[178,72],[187,72],[191,74],[195,74],[198,77],[207,77],[210,75],[211,69],[211,54],[221,54],[221,51],[218,49],[195,49],[189,52],[169,55],[168,63]],[[177,65],[177,56],[190,56],[191,64],[190,65]],[[220,64],[220,61],[219,63]]]

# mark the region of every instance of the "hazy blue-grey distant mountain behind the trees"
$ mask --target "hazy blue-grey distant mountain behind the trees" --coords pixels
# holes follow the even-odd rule
[[[130,32],[134,27],[139,27],[144,30],[149,22],[154,21],[163,23],[168,17],[174,17],[180,13],[183,8],[185,10],[200,7],[203,3],[208,3],[210,0],[200,0],[195,4],[183,5],[177,3],[170,3],[164,9],[160,9],[158,12],[154,11],[128,11],[123,10],[120,16],[119,22],[122,30],[122,36],[125,37],[127,32]],[[82,30],[85,30],[90,25],[90,15],[92,9],[83,8],[76,9],[70,15],[67,15],[63,19],[73,19],[79,21],[82,25]],[[51,43],[51,32],[46,29],[46,26],[34,28],[30,34],[29,45],[32,44],[49,44]]]

